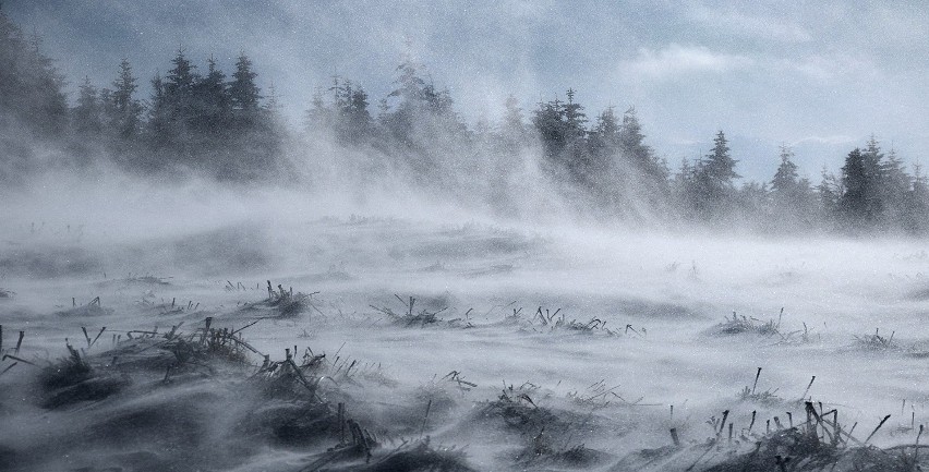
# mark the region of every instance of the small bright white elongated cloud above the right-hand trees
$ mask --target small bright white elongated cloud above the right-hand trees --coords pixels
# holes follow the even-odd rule
[[[664,49],[639,49],[639,55],[622,64],[622,69],[636,76],[671,78],[700,72],[726,72],[752,64],[745,56],[714,52],[700,46],[671,44]]]

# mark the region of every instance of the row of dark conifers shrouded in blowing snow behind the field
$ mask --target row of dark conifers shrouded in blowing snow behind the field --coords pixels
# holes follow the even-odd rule
[[[770,181],[737,184],[738,160],[723,131],[707,155],[672,171],[647,144],[635,108],[619,113],[611,107],[591,119],[574,89],[528,111],[510,96],[498,122],[469,125],[450,92],[408,57],[375,107],[349,78],[317,88],[297,131],[281,119],[273,87],[263,94],[246,55],[230,75],[213,58],[202,65],[178,50],[167,72],[148,81],[146,96],[122,60],[111,83],[85,78],[69,104],[64,77],[41,52],[41,39],[27,37],[0,10],[0,181],[44,166],[49,153],[43,149],[50,147],[59,165],[108,156],[133,172],[233,182],[314,185],[346,176],[318,170],[324,165],[349,169],[346,185],[389,172],[398,184],[499,214],[530,211],[526,202],[534,196],[539,205],[555,202],[598,219],[661,225],[929,230],[926,176],[918,166],[908,172],[874,137],[848,153],[837,176],[823,170],[818,184],[799,177],[787,146]],[[316,156],[323,144],[328,152]]]

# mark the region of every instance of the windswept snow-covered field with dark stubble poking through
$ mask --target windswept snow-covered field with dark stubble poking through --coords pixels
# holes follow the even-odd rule
[[[0,470],[915,470],[929,457],[908,447],[929,419],[924,241],[274,198],[237,202],[233,219],[153,198],[83,227],[67,208],[5,210]]]

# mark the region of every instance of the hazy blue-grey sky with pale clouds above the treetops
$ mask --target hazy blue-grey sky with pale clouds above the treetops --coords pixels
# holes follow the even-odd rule
[[[773,176],[781,143],[815,183],[871,133],[907,160],[929,160],[929,3],[786,3],[7,0],[3,9],[45,37],[72,98],[85,75],[109,84],[123,57],[146,98],[179,47],[201,70],[214,55],[227,72],[244,51],[295,125],[334,74],[376,105],[410,50],[472,122],[498,117],[510,93],[529,111],[571,87],[591,119],[635,106],[673,170],[705,154],[717,130],[737,170],[756,180]]]

